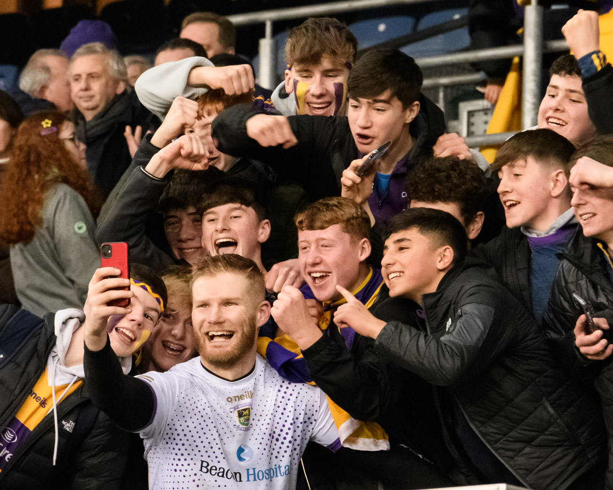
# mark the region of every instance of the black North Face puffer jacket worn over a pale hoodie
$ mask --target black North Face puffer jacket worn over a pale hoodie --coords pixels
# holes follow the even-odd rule
[[[0,305],[0,428],[28,398],[55,345],[54,315],[45,320],[15,306]],[[58,405],[58,456],[53,466],[53,412],[34,428],[0,473],[2,490],[120,488],[128,445],[121,431],[96,409],[82,385]],[[72,431],[65,429],[74,422]],[[6,456],[6,455],[5,455]]]

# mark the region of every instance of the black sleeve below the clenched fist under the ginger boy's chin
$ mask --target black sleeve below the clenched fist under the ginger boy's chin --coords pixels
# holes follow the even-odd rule
[[[400,369],[376,355],[372,339],[360,337],[357,342],[364,347],[359,360],[327,335],[302,355],[313,381],[339,407],[356,420],[376,420],[397,397]]]

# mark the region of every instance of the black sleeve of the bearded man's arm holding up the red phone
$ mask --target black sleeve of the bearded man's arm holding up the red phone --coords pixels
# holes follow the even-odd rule
[[[94,405],[126,431],[145,427],[153,416],[153,391],[144,381],[123,374],[109,337],[101,350],[85,347],[85,383]]]

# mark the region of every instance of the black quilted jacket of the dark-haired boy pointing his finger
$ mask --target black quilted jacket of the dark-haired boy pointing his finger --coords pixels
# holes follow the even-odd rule
[[[389,322],[376,352],[446,387],[527,488],[564,490],[604,459],[595,398],[554,359],[533,318],[474,259],[422,296],[427,333]]]

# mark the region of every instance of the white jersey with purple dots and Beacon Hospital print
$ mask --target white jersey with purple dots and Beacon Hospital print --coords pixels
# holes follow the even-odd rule
[[[284,380],[260,355],[235,381],[208,372],[200,358],[138,377],[155,398],[138,431],[151,489],[295,488],[309,440],[340,448],[326,395]]]

